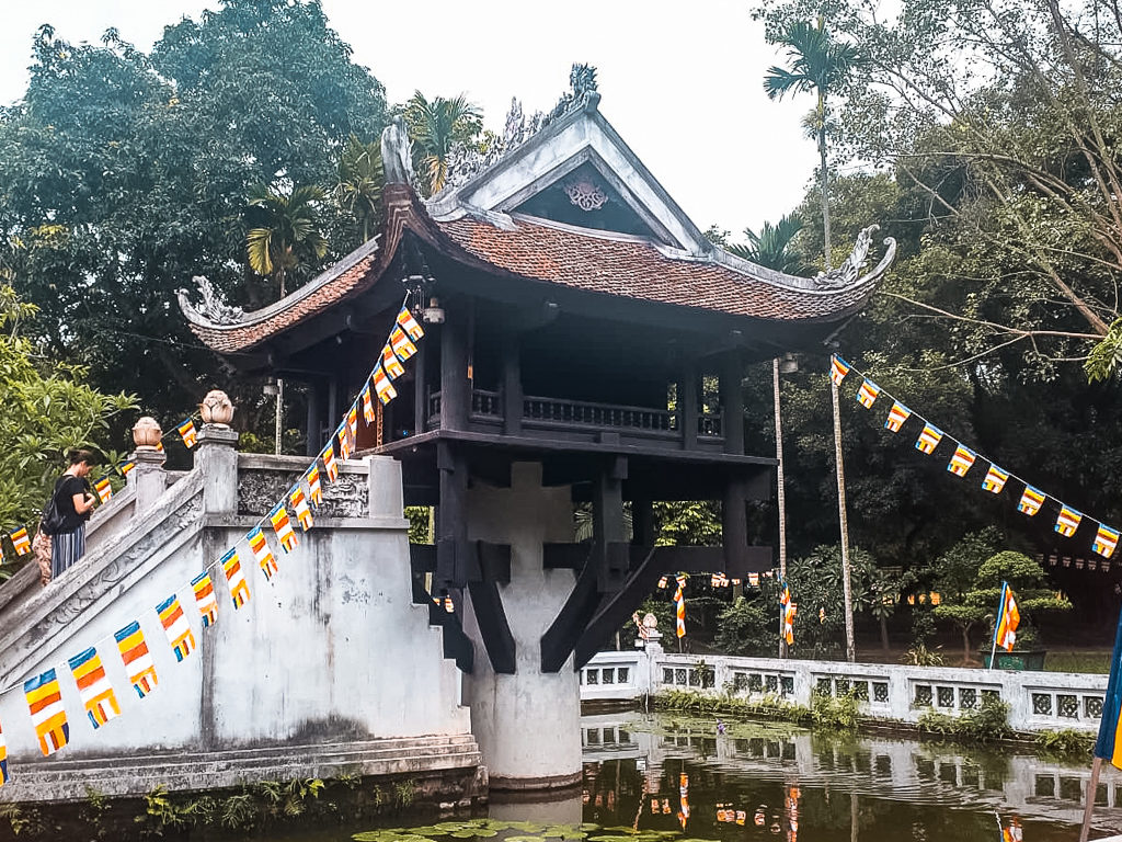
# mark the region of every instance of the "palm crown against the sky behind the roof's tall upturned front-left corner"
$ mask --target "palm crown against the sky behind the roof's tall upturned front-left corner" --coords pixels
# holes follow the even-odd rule
[[[425,99],[415,91],[405,103],[405,125],[413,141],[413,167],[427,181],[429,195],[448,181],[448,158],[458,144],[470,141],[482,130],[479,108],[461,93],[454,99]]]

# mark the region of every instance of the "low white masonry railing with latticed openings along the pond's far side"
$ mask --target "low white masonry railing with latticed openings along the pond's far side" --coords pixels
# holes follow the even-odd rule
[[[1082,672],[698,657],[660,649],[597,653],[581,669],[581,701],[627,701],[687,689],[809,705],[816,690],[853,693],[871,716],[914,723],[925,711],[957,716],[993,696],[1009,704],[1012,727],[1043,731],[1097,729],[1106,692],[1106,676]]]

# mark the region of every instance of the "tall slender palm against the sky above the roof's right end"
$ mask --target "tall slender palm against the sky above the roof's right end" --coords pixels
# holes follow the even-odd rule
[[[827,104],[834,92],[855,67],[862,64],[861,53],[850,44],[834,40],[826,30],[824,18],[818,26],[806,21],[789,24],[781,34],[769,38],[787,47],[790,70],[772,66],[764,76],[764,92],[781,100],[788,93],[813,92],[818,95],[811,125],[818,135],[819,181],[822,200],[822,234],[826,241],[826,268],[830,268],[830,205],[827,194],[829,170],[826,162]]]

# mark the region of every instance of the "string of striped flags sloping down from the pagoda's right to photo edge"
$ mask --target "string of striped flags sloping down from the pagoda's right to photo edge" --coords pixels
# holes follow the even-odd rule
[[[892,401],[889,414],[884,421],[884,429],[893,433],[899,433],[903,429],[903,425],[914,417],[922,424],[918,438],[916,439],[917,450],[930,456],[935,452],[936,448],[944,439],[954,443],[954,451],[950,455],[950,460],[947,463],[947,470],[949,473],[957,477],[965,477],[968,473],[971,473],[971,470],[974,469],[974,466],[977,463],[982,463],[986,466],[985,475],[982,477],[981,482],[983,491],[986,491],[990,494],[1001,494],[1005,489],[1006,485],[1009,485],[1010,481],[1012,481],[1014,485],[1023,486],[1017,503],[1017,510],[1019,512],[1022,512],[1029,518],[1034,518],[1040,510],[1043,509],[1049,501],[1051,501],[1059,507],[1059,514],[1057,515],[1055,525],[1052,527],[1058,534],[1065,538],[1074,538],[1082,524],[1086,523],[1087,525],[1094,525],[1095,534],[1092,541],[1092,550],[1103,558],[1110,558],[1114,553],[1119,543],[1120,532],[1118,529],[1114,529],[1102,521],[1086,516],[1078,510],[1064,503],[1061,500],[1047,494],[1027,481],[1021,479],[1015,474],[1005,470],[993,460],[987,459],[985,456],[972,450],[965,443],[944,433],[938,427],[910,410],[893,395],[876,385],[863,372],[854,368],[849,363],[846,363],[842,357],[835,354],[830,358],[830,379],[836,386],[842,386],[850,373],[862,378],[862,383],[857,388],[856,399],[857,402],[866,410],[872,410],[873,405],[882,396]],[[981,470],[981,466],[975,470],[975,475],[977,475],[978,470]]]

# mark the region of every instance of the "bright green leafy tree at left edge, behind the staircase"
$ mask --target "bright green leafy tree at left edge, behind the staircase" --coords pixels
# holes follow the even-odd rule
[[[22,330],[36,315],[34,304],[0,285],[0,529],[38,525],[66,451],[85,447],[102,452],[112,473],[121,454],[105,447],[110,422],[137,408],[130,394],[103,394],[85,383],[82,366],[50,360]]]

